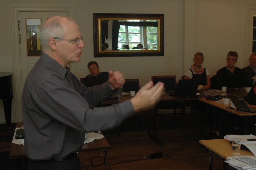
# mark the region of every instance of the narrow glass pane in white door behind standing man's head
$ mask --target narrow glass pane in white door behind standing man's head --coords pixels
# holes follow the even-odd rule
[[[40,26],[41,19],[26,19],[26,32],[27,32],[27,56],[40,56]]]

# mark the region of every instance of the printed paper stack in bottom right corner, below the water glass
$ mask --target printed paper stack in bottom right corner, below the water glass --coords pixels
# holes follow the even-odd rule
[[[256,170],[256,157],[254,156],[228,157],[225,162],[238,170]]]

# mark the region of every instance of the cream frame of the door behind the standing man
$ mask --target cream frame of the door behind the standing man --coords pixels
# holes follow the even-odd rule
[[[19,44],[18,21],[19,12],[68,12],[68,16],[75,21],[75,8],[72,6],[15,6],[11,5],[12,28],[12,58],[14,79],[15,120],[20,122],[22,118],[22,76],[21,76],[21,52]],[[77,76],[76,63],[70,64],[71,72]]]

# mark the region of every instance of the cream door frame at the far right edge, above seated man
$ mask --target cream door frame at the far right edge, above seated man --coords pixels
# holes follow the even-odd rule
[[[256,10],[256,4],[247,4],[245,6],[245,27],[244,27],[244,61],[243,61],[243,67],[248,66],[249,64],[249,55],[248,54],[248,43],[249,43],[249,21],[250,21],[250,11]],[[251,53],[252,54],[252,53]]]

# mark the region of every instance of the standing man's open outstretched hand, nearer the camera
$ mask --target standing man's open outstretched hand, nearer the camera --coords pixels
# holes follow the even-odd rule
[[[160,101],[160,94],[165,90],[163,83],[158,82],[156,85],[153,85],[153,82],[150,81],[137,92],[136,96],[131,99],[134,112],[137,113],[143,110],[149,110],[154,108],[154,106]]]

